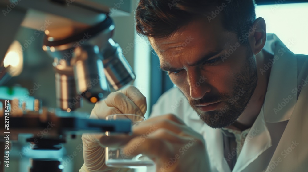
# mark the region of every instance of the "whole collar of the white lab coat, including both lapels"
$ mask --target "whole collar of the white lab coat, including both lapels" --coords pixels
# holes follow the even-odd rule
[[[279,59],[273,62],[265,102],[255,123],[246,136],[241,154],[237,158],[233,171],[239,172],[244,170],[260,154],[272,146],[272,140],[269,130],[266,127],[266,122],[274,123],[290,119],[297,99],[296,96],[291,94],[292,89],[297,86],[297,61],[292,52],[284,52],[283,48],[286,49],[286,46],[275,34],[268,34],[265,50],[274,53],[274,57],[276,55],[276,58]],[[282,104],[284,106],[283,108],[279,107],[277,109],[279,111],[274,111],[274,108],[278,108],[278,103],[281,104],[289,95],[294,97],[288,103]],[[200,121],[197,114],[190,115],[190,118]],[[221,130],[213,129],[207,125],[203,127],[202,134],[208,140],[206,145],[211,163],[216,166],[218,171],[231,171],[223,155]],[[262,170],[264,169],[260,169],[260,171]]]

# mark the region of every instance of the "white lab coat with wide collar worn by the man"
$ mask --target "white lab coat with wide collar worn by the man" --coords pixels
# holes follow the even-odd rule
[[[286,46],[279,38],[268,34],[265,49],[278,60],[272,66],[261,112],[246,136],[233,172],[308,171],[308,56],[282,48]],[[300,92],[296,92],[297,87]],[[221,130],[204,124],[177,88],[159,98],[150,117],[168,113],[203,135],[212,172],[231,172],[223,155]]]

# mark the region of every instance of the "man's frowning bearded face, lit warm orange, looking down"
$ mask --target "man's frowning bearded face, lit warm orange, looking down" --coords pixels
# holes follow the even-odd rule
[[[160,67],[210,127],[233,124],[257,85],[255,56],[217,16],[198,19],[167,38],[149,37]]]

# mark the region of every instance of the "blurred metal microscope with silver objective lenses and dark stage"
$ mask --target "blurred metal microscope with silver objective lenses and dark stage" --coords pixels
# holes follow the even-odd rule
[[[5,171],[5,166],[9,165],[10,150],[14,149],[12,143],[20,141],[21,134],[32,134],[26,141],[32,143],[34,150],[59,150],[68,136],[131,131],[130,121],[87,119],[89,114],[75,111],[82,106],[82,99],[96,103],[108,96],[110,86],[119,90],[136,78],[121,47],[112,39],[115,25],[109,9],[115,7],[115,2],[0,0],[3,13],[0,15],[0,86],[22,72],[26,45],[14,41],[18,28],[38,29],[41,26],[35,34],[44,34],[40,48],[50,57],[42,58],[53,58],[50,65],[55,72],[58,107],[50,110],[42,106],[42,101],[34,99],[29,110],[23,100],[0,99],[0,123],[3,125],[0,127],[0,171]],[[130,3],[125,0],[126,5],[116,6],[117,12],[129,12]],[[34,39],[31,37],[27,43],[31,44]],[[46,126],[52,129],[39,135]],[[33,158],[29,171],[60,172],[62,169],[57,158]]]

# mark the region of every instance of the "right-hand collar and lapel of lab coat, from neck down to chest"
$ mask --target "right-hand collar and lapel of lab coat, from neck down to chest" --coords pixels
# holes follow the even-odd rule
[[[275,34],[268,34],[265,50],[273,53],[277,60],[272,62],[264,104],[246,136],[241,153],[233,168],[233,171],[236,172],[243,171],[272,146],[272,139],[266,123],[289,120],[296,104],[297,96],[291,94],[292,89],[297,86],[297,60],[294,53],[288,50]],[[290,98],[290,95],[294,97]],[[286,104],[282,104],[284,100],[286,100]],[[283,107],[278,109],[278,104],[282,104]],[[274,108],[277,108],[277,111]],[[262,170],[264,169],[254,169],[254,171]]]

